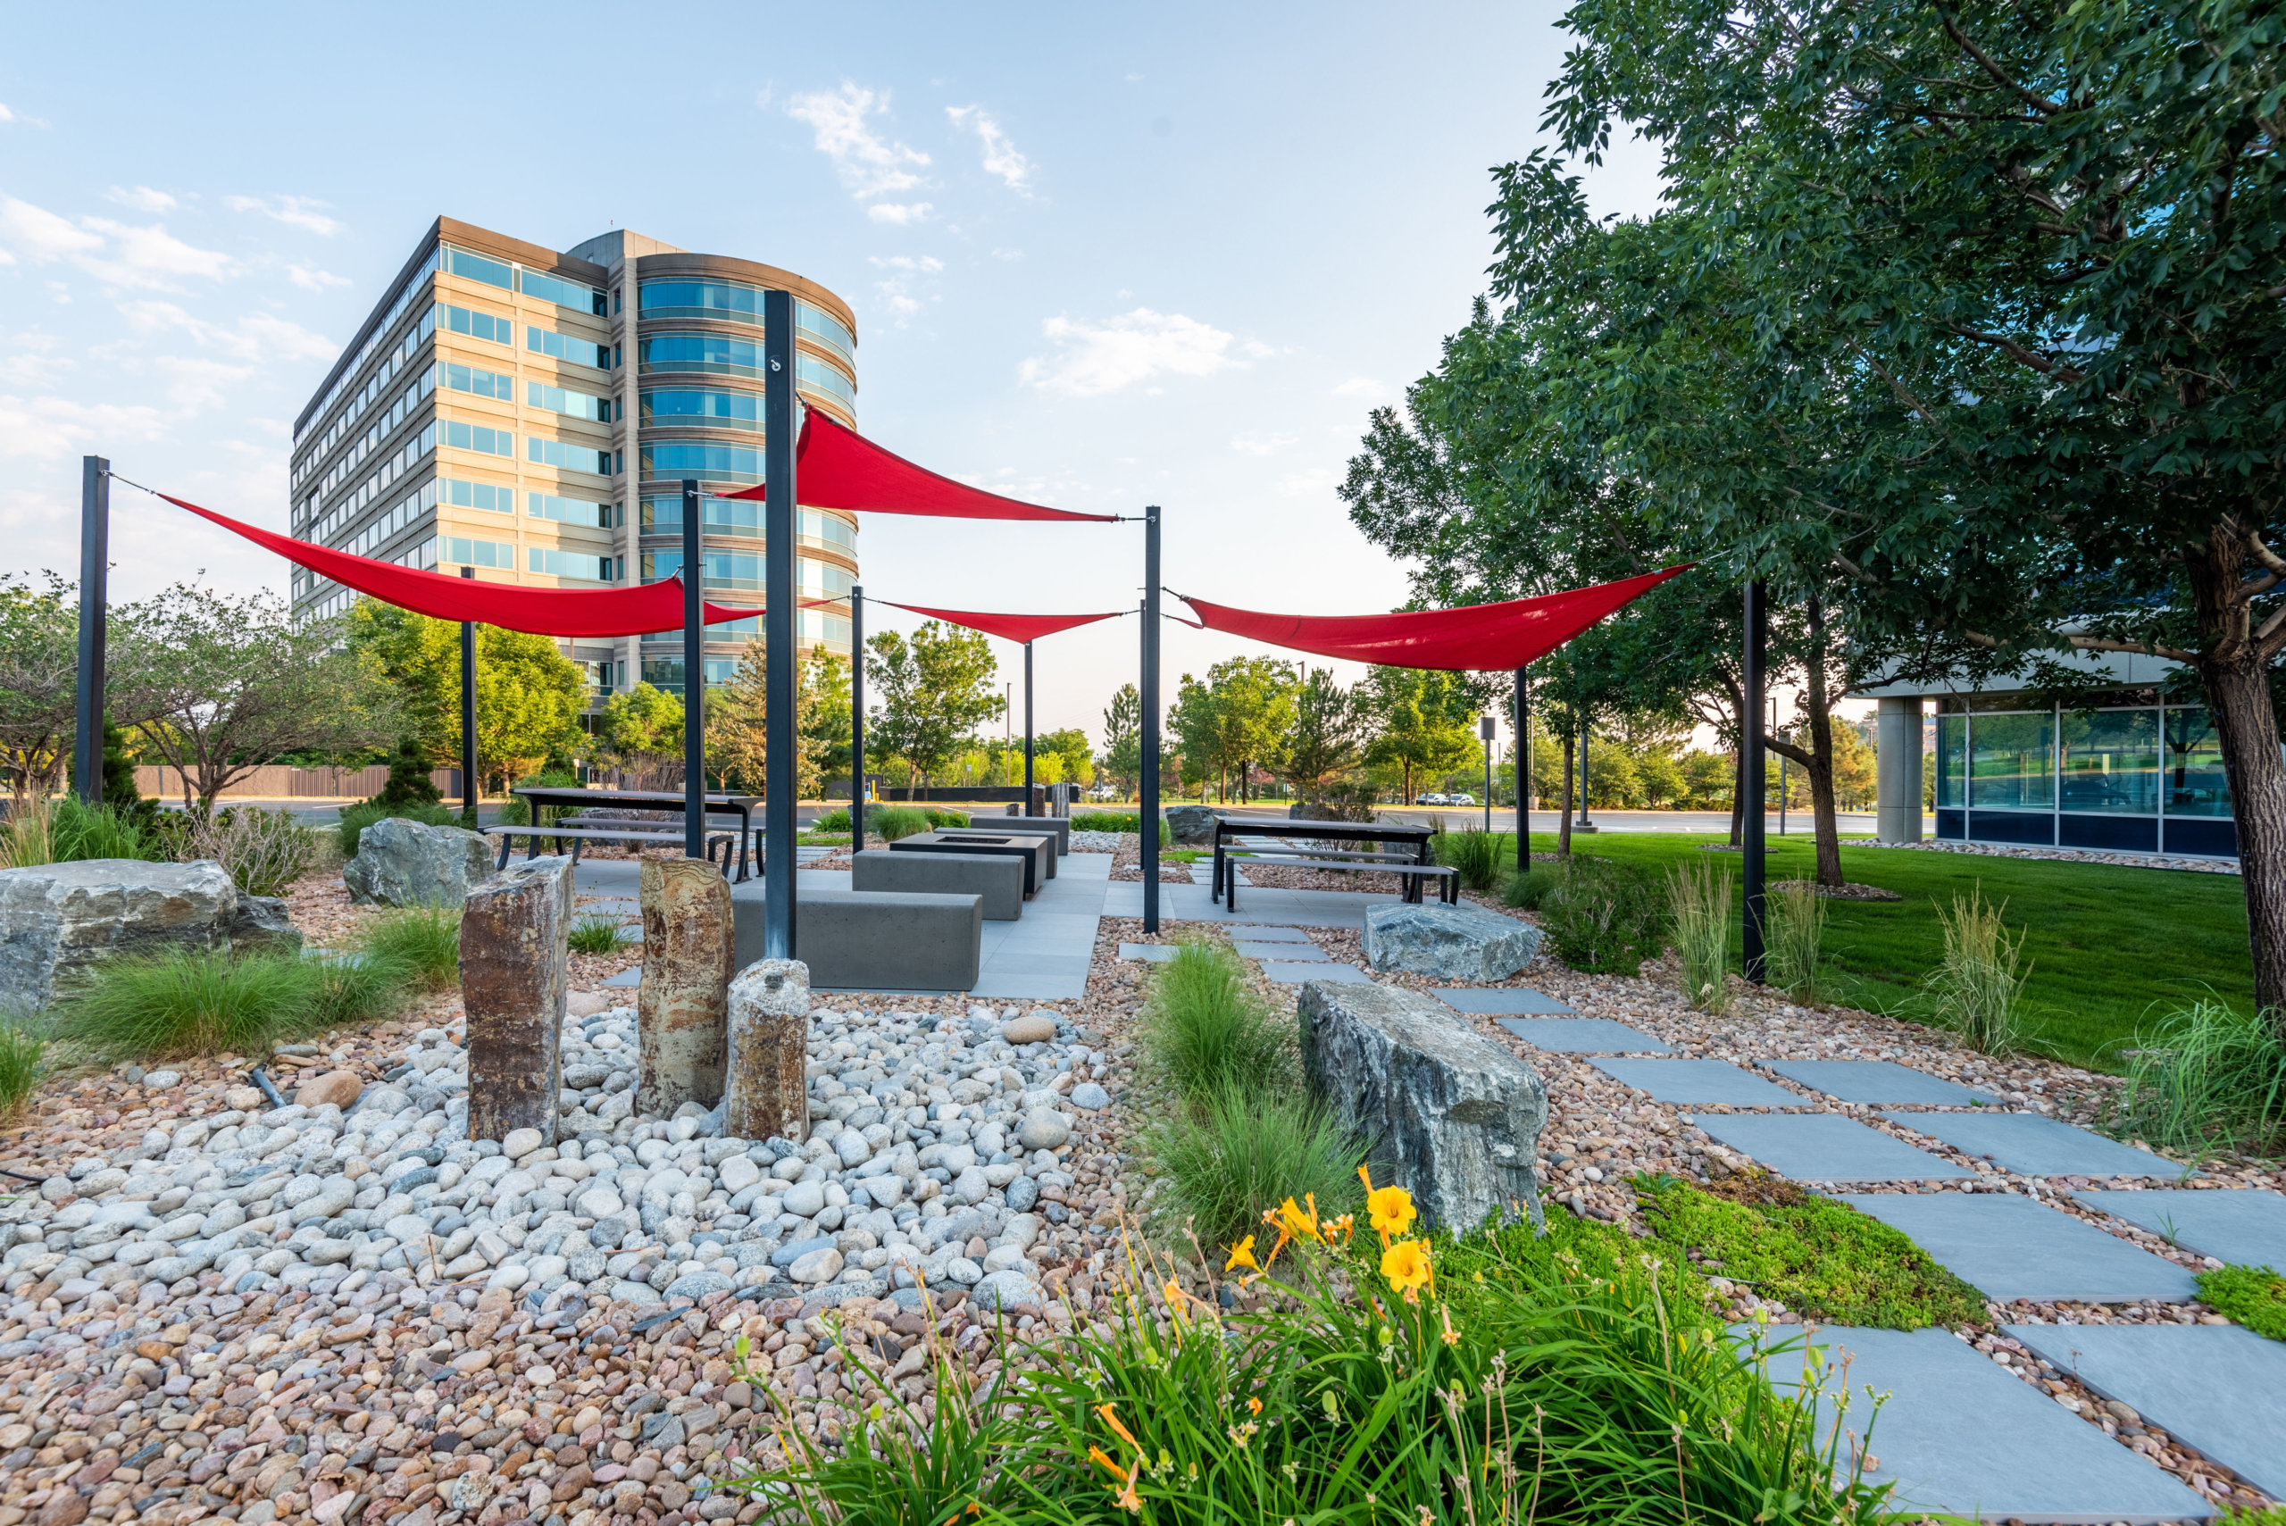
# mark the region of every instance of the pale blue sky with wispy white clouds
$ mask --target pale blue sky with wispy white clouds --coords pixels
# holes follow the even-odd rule
[[[21,11],[0,567],[75,567],[82,452],[283,528],[295,413],[443,212],[798,270],[857,308],[860,427],[892,450],[1074,509],[1159,503],[1175,589],[1392,608],[1404,567],[1335,487],[1367,411],[1484,288],[1486,171],[1543,142],[1559,14]],[[1591,194],[1646,210],[1653,167],[1623,155]],[[274,557],[128,489],[114,560],[126,599],[201,569],[286,587]],[[882,599],[1109,610],[1136,601],[1141,530],[871,516],[860,560]],[[1042,642],[1042,729],[1097,733],[1134,642],[1132,619]],[[1168,626],[1166,683],[1241,649]]]

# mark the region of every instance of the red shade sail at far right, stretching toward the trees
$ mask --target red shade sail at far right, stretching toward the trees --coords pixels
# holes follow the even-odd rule
[[[1598,583],[1538,599],[1470,603],[1458,610],[1410,615],[1260,615],[1189,594],[1177,594],[1177,599],[1198,610],[1207,631],[1244,635],[1271,646],[1314,651],[1321,658],[1381,662],[1383,667],[1486,672],[1522,667],[1548,656],[1605,615],[1689,571],[1689,567],[1685,562],[1641,578]]]

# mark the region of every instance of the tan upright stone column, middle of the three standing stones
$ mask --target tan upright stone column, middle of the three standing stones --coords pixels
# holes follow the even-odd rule
[[[706,859],[642,861],[642,987],[636,1110],[672,1117],[722,1101],[729,1028],[729,882]]]

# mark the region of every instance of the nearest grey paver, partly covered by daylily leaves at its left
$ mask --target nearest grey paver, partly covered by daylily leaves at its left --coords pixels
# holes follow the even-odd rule
[[[2009,1334],[2023,1339],[2021,1330]],[[1751,1330],[1742,1339],[1753,1339]],[[1769,1343],[1767,1334],[1763,1339]],[[1822,1389],[1817,1441],[1822,1446],[1838,1421],[1847,1432],[1840,1471],[1854,1446],[1865,1448],[1865,1480],[1897,1485],[1891,1512],[1911,1508],[1982,1521],[2195,1521],[2215,1512],[2156,1462],[2108,1441],[1945,1330],[1824,1325],[1808,1350],[1797,1341],[1792,1350],[1772,1352],[1769,1380],[1801,1389],[1813,1355],[1813,1380]],[[1849,1409],[1838,1414],[1843,1384]],[[1868,1387],[1888,1394],[1879,1412],[1868,1407]],[[1868,1421],[1870,1448],[1863,1441]]]

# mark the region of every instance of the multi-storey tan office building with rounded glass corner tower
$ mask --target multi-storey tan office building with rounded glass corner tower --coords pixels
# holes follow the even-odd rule
[[[796,295],[796,393],[857,425],[857,318],[773,265],[613,231],[567,251],[439,217],[295,420],[299,539],[523,587],[654,583],[681,569],[681,480],[704,484],[704,587],[761,610],[761,292]],[[857,525],[798,514],[800,646],[848,656]],[[357,599],[295,569],[297,612]],[[713,626],[725,683],[759,619]],[[597,697],[681,692],[681,633],[565,642]]]

